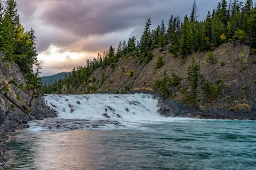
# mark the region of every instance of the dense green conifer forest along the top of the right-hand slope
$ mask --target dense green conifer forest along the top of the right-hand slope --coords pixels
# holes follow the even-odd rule
[[[190,16],[184,16],[183,20],[179,16],[171,15],[167,27],[164,20],[152,30],[150,25],[149,18],[139,40],[133,36],[127,42],[120,41],[116,49],[110,46],[103,57],[98,54],[93,61],[87,60],[85,66],[74,68],[72,74],[61,80],[62,83],[58,87],[56,82],[55,85],[45,86],[44,88],[48,89],[43,92],[60,92],[56,89],[61,89],[63,85],[76,89],[79,84],[84,84],[88,93],[94,92],[94,70],[104,70],[108,65],[114,68],[122,57],[128,56],[138,57],[140,63],[150,63],[153,57],[152,50],[155,48],[163,51],[168,47],[169,53],[174,57],[186,59],[186,56],[192,53],[210,52],[223,43],[238,40],[249,45],[252,53],[256,52],[256,8],[252,0],[246,0],[245,3],[238,0],[221,0],[212,12],[208,11],[204,21],[198,20],[198,7],[194,0]]]

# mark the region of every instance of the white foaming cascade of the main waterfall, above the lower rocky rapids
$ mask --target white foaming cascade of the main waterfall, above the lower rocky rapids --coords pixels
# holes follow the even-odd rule
[[[145,94],[48,95],[44,99],[62,119],[105,119],[103,114],[107,113],[111,120],[120,120],[115,116],[116,114],[120,115],[123,121],[128,122],[163,120],[157,113],[158,101]]]

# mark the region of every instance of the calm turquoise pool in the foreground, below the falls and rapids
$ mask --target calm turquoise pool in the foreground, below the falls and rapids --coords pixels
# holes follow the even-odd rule
[[[7,170],[256,170],[256,121],[168,119],[134,127],[22,130]]]

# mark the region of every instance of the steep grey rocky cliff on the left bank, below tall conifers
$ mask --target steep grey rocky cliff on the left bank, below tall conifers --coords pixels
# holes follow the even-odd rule
[[[13,78],[16,79],[17,83],[11,83],[3,90],[2,88]],[[28,104],[32,94],[25,90],[24,87],[26,87],[26,79],[18,65],[8,63],[0,58],[0,89],[2,89],[0,90],[0,162],[4,162],[7,159],[7,148],[3,146],[3,142],[8,137],[8,133],[18,130],[20,124],[27,123],[31,119],[18,107],[14,106],[4,94],[9,96],[36,119],[54,117],[56,115],[56,113],[44,105],[44,101],[40,98],[34,98],[32,107],[29,107]]]

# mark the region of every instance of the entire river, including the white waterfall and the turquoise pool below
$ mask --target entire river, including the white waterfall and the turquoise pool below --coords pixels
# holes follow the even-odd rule
[[[58,117],[11,135],[7,170],[256,169],[255,121],[165,118],[144,94],[45,101]]]

